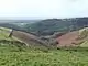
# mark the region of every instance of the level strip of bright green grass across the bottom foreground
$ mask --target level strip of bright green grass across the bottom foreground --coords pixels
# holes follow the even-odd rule
[[[88,66],[88,52],[41,51],[2,52],[0,66]]]

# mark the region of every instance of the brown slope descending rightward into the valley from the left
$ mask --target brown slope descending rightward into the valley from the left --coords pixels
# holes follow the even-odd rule
[[[40,37],[32,35],[30,33],[21,32],[21,31],[13,31],[13,36],[18,37],[22,42],[24,42],[28,46],[44,46],[50,47]]]

